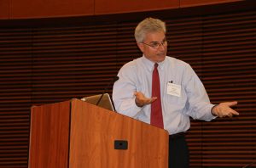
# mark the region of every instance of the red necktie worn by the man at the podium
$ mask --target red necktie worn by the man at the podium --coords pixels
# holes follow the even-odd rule
[[[152,97],[157,99],[151,104],[151,120],[150,123],[153,126],[164,128],[162,106],[161,106],[161,95],[160,95],[160,80],[157,70],[158,64],[154,64],[154,70],[152,74]]]

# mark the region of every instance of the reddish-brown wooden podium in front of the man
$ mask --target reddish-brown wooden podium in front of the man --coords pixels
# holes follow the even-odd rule
[[[73,98],[33,106],[30,168],[167,168],[168,132]]]

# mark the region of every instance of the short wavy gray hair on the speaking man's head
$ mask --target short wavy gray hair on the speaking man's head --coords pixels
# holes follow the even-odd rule
[[[134,36],[137,42],[143,42],[147,33],[158,31],[163,31],[166,34],[166,23],[162,20],[146,18],[137,25]]]

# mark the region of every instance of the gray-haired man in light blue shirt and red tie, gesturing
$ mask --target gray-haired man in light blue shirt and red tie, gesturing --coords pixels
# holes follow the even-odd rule
[[[183,135],[189,130],[189,116],[209,121],[239,115],[230,108],[237,102],[211,104],[190,65],[166,56],[163,21],[143,20],[137,25],[135,38],[143,56],[119,70],[119,80],[113,85],[115,108],[123,115],[166,129],[172,154],[169,167],[189,167],[189,150]]]

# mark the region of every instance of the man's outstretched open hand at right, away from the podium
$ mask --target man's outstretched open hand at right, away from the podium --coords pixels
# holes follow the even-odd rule
[[[221,118],[226,116],[232,117],[233,115],[239,115],[236,110],[230,108],[236,104],[236,101],[220,103],[212,108],[212,115],[216,115]]]

